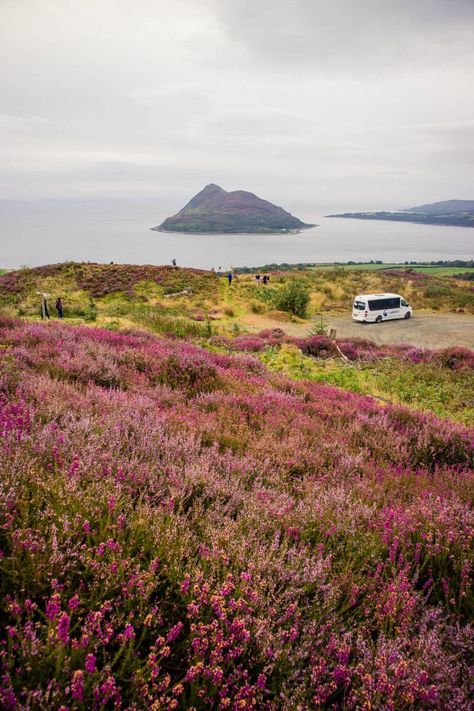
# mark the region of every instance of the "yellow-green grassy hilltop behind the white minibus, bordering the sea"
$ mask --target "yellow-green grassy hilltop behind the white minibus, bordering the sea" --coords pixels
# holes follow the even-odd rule
[[[466,268],[462,268],[466,271]],[[21,269],[0,277],[0,304],[12,315],[35,317],[38,290],[61,296],[66,318],[95,321],[100,325],[143,325],[148,316],[181,317],[213,322],[218,330],[234,324],[251,325],[252,314],[285,311],[280,297],[298,281],[310,299],[306,316],[320,309],[350,312],[358,293],[401,293],[415,309],[449,311],[462,308],[474,313],[474,291],[468,282],[402,268],[312,268],[270,272],[270,284],[257,285],[252,274],[239,274],[231,287],[211,272],[173,267],[118,264],[66,263]],[[185,289],[190,293],[178,295]],[[280,313],[277,318],[292,318]],[[156,318],[155,318],[156,320]],[[157,324],[155,324],[157,326]],[[160,330],[160,328],[158,328]]]

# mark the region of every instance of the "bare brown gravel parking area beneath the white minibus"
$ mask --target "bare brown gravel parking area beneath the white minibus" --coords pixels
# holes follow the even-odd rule
[[[335,328],[338,338],[367,338],[374,343],[410,343],[425,348],[465,346],[474,349],[474,316],[472,314],[415,313],[413,318],[376,323],[357,323],[351,316],[325,317],[329,328]],[[244,325],[244,324],[243,324]],[[285,323],[265,317],[254,317],[245,324],[253,331],[281,328],[292,336],[305,336],[310,326]]]

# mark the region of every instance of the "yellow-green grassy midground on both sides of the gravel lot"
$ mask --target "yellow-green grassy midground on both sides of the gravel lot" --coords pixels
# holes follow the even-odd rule
[[[308,290],[306,318],[282,310],[288,309],[282,295],[295,282]],[[182,294],[184,289],[190,293]],[[472,287],[451,277],[420,276],[400,269],[374,272],[338,267],[296,274],[273,272],[267,286],[257,286],[252,275],[240,275],[229,287],[224,277],[199,270],[59,264],[22,269],[1,277],[3,312],[38,320],[38,290],[51,294],[53,316],[55,298],[62,296],[65,321],[71,324],[99,325],[115,331],[147,329],[195,340],[225,353],[236,349],[256,352],[271,369],[293,378],[323,381],[466,424],[474,419],[470,395],[474,371],[459,370],[456,359],[454,367],[450,367],[451,350],[445,361],[440,361],[420,349],[381,350],[372,345],[369,351],[355,341],[338,341],[349,356],[349,363],[332,347],[313,347],[309,353],[305,350],[314,314],[321,309],[325,313],[347,313],[353,295],[361,291],[399,292],[410,299],[415,309],[473,311]],[[287,334],[282,331],[275,337],[275,332],[270,331],[263,337],[246,335],[258,333],[266,322],[273,327],[280,325]],[[289,335],[294,331],[302,336],[297,339]]]

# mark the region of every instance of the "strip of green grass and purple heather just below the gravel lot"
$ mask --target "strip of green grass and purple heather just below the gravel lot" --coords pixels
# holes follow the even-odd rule
[[[214,336],[207,346],[224,353],[254,353],[271,370],[297,380],[337,385],[474,425],[474,352],[467,348],[381,346],[323,334],[297,338],[280,328],[232,339]]]

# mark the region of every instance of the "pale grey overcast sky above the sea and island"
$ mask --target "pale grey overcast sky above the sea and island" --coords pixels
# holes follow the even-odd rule
[[[474,0],[0,0],[0,198],[474,199]]]

